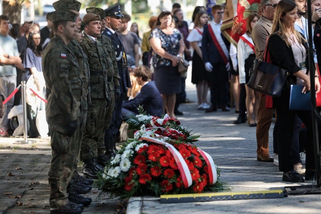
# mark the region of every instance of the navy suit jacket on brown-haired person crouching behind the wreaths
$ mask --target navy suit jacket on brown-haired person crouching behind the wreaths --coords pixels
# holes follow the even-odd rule
[[[133,112],[141,105],[149,115],[160,117],[163,114],[163,101],[155,82],[150,81],[140,89],[140,93],[132,100],[124,101],[122,107]]]

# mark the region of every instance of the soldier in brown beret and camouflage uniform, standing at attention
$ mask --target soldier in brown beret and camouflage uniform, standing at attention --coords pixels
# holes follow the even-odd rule
[[[90,178],[97,178],[96,172],[103,169],[96,162],[97,143],[104,130],[106,108],[110,104],[107,76],[113,73],[113,67],[112,61],[106,57],[107,53],[101,42],[97,40],[101,29],[100,17],[95,14],[86,14],[83,23],[85,37],[81,47],[88,57],[91,106],[87,113],[80,158],[85,163],[84,174]],[[112,78],[109,80],[112,81]]]

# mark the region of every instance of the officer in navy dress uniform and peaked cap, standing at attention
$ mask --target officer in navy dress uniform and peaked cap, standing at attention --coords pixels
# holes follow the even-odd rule
[[[111,40],[112,45],[115,48],[118,74],[120,76],[120,96],[118,97],[118,100],[116,100],[115,110],[113,111],[111,118],[111,124],[109,128],[105,130],[106,155],[108,157],[111,157],[114,156],[116,152],[115,137],[120,128],[123,97],[124,94],[127,93],[127,88],[131,87],[131,84],[127,69],[124,47],[118,37],[118,34],[116,33],[116,30],[118,30],[120,27],[120,18],[123,17],[123,15],[120,13],[120,5],[115,5],[106,9],[105,15],[106,30],[102,34],[107,36]]]

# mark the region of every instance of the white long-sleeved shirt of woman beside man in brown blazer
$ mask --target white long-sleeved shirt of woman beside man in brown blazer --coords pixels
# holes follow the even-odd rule
[[[247,36],[247,34],[243,34],[243,37],[245,37],[249,42],[253,44],[252,37]],[[250,54],[254,54],[253,49],[246,44],[242,39],[239,40],[237,43],[237,60],[239,63],[239,77],[240,77],[240,84],[245,84],[245,75],[247,75],[245,72],[245,60],[250,56]]]

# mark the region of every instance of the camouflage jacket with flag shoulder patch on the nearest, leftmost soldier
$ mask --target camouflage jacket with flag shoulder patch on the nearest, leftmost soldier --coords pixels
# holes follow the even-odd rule
[[[42,66],[46,86],[51,89],[46,116],[65,114],[71,120],[78,120],[81,116],[81,91],[84,83],[74,51],[56,35],[43,53]]]

